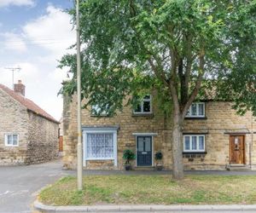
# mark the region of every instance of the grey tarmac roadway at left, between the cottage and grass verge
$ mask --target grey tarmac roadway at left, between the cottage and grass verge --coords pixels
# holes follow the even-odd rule
[[[0,212],[32,212],[37,192],[71,171],[61,170],[61,161],[27,166],[0,167]]]

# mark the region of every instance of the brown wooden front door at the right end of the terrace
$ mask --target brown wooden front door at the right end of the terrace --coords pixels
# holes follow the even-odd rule
[[[230,135],[230,164],[245,164],[244,135]]]

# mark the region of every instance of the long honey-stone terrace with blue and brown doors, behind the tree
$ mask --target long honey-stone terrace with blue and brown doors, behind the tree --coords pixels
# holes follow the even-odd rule
[[[73,100],[72,100],[73,99]],[[64,97],[64,166],[77,164],[77,101]],[[163,153],[165,169],[172,169],[172,124],[146,95],[136,108],[125,107],[110,117],[82,111],[84,169],[123,170],[125,149],[136,153],[134,168],[154,168],[154,153]],[[229,101],[195,102],[183,127],[185,170],[256,168],[256,122],[252,112],[239,116]]]

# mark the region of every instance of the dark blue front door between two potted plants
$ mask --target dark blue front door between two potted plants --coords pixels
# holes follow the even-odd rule
[[[137,136],[137,166],[152,165],[152,137]]]

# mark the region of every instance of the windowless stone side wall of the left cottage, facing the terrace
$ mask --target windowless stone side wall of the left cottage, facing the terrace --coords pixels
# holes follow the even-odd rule
[[[28,143],[26,164],[50,161],[58,156],[58,124],[34,112],[28,112]]]

